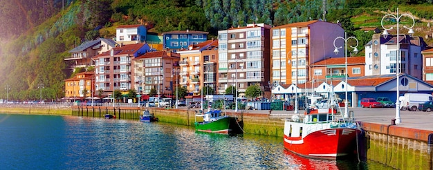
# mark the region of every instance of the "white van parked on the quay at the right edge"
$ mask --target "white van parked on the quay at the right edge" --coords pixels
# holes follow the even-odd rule
[[[432,100],[431,94],[423,93],[405,93],[403,101],[400,104],[400,110],[417,111],[418,104]]]

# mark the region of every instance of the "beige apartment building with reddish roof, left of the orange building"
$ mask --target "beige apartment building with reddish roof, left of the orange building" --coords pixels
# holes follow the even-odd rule
[[[152,51],[134,58],[133,89],[149,96],[156,89],[160,96],[172,97],[178,83],[174,70],[178,69],[180,55],[169,51]]]

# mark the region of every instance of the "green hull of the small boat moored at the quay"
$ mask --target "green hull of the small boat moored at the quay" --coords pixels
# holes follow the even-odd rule
[[[207,133],[221,133],[228,134],[231,130],[229,129],[230,117],[222,117],[219,120],[212,122],[196,122],[196,131],[207,132]]]

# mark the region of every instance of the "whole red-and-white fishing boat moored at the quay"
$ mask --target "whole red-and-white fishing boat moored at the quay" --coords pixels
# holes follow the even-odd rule
[[[338,104],[310,108],[284,122],[284,148],[308,158],[335,160],[356,153],[360,129],[353,112],[343,116]]]

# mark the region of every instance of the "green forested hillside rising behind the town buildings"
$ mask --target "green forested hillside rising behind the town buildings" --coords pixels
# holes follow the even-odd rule
[[[361,26],[380,26],[381,12],[396,7],[433,18],[432,0],[0,0],[0,98],[10,86],[12,100],[39,99],[42,84],[44,100],[62,97],[63,80],[71,75],[67,51],[88,39],[111,38],[122,24],[154,26],[149,32],[155,33],[201,30],[215,37],[217,30],[253,22],[280,26],[324,19],[326,10],[326,21],[339,20],[357,35]]]

